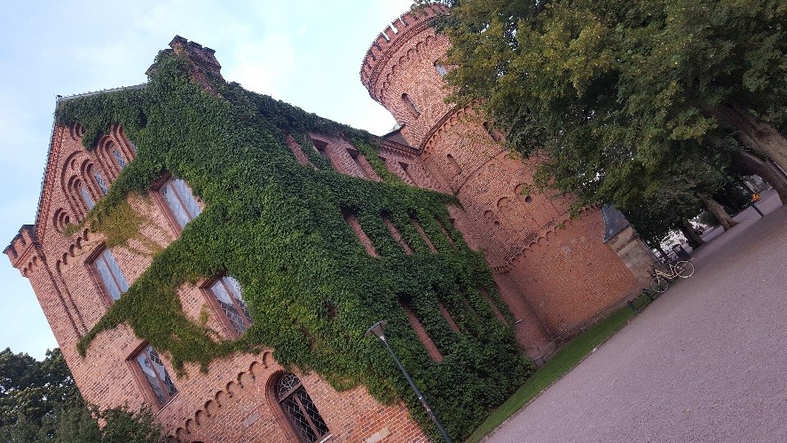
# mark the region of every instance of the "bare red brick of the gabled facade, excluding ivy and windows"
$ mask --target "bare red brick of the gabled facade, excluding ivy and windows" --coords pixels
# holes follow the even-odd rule
[[[76,129],[56,129],[38,225],[35,232],[32,227],[23,229],[6,253],[30,280],[84,398],[99,407],[125,404],[138,408],[148,404],[165,431],[185,441],[293,441],[292,428],[278,402],[272,401],[268,393],[269,382],[281,370],[272,360],[271,352],[213,361],[207,374],[187,364],[182,377],[176,377],[167,356],[161,355],[178,390],[163,407],[157,403],[133,360],[145,344],[127,325],[99,334],[87,356],[83,359],[78,355],[75,346],[79,338],[101,319],[111,302],[91,265],[92,258],[104,248],[103,236],[87,231],[70,237],[61,233],[66,218],[78,222],[87,211],[67,184],[74,175],[89,183],[86,164],[98,170],[107,185],[120,171],[112,157],[101,149],[86,151],[79,135]],[[122,145],[125,158],[130,160],[133,151],[119,128],[114,128],[105,141]],[[343,147],[337,140],[332,142],[336,149]],[[355,162],[346,164],[358,167]],[[91,188],[91,193],[98,200],[98,189]],[[132,196],[129,201],[146,219],[140,229],[143,240],[132,239],[128,247],[117,246],[111,250],[131,284],[150,265],[154,249],[174,241],[179,228],[170,223],[168,209],[161,199]],[[206,327],[216,331],[216,336],[232,337],[234,330],[227,328],[220,317],[223,312],[215,309],[209,298],[212,296],[200,286],[198,282],[178,290],[186,316],[197,322],[202,312],[207,313]],[[404,405],[381,405],[363,388],[336,392],[315,374],[298,376],[325,419],[333,440],[426,441]]]

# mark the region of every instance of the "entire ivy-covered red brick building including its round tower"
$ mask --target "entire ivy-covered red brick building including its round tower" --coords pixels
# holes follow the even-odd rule
[[[58,100],[35,225],[5,253],[85,399],[150,407],[183,441],[424,441],[363,338],[388,319],[460,439],[641,287],[630,226],[571,218],[532,185],[538,159],[445,104],[441,12],[405,13],[363,59],[399,123],[382,137],[228,83],[181,37],[148,83]]]

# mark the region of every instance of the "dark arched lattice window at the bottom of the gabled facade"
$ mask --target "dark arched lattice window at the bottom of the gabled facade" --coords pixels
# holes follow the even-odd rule
[[[290,373],[282,374],[275,390],[279,406],[297,431],[298,439],[314,443],[328,437],[330,431],[327,424],[298,377]]]

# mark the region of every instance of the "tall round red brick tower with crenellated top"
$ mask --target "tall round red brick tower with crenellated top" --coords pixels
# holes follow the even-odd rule
[[[642,282],[603,242],[600,210],[571,218],[570,197],[533,185],[539,159],[509,152],[470,107],[445,104],[439,60],[450,44],[433,25],[448,12],[433,4],[394,20],[366,52],[361,82],[396,118],[398,135],[438,187],[458,197],[466,220],[456,227],[484,250],[519,343],[538,359],[553,339],[617,307]]]

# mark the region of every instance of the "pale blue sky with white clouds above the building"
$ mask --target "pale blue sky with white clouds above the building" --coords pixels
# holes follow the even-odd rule
[[[222,75],[382,135],[395,124],[358,79],[361,60],[412,0],[4,2],[0,14],[0,243],[35,223],[57,95],[145,83],[183,36]],[[229,6],[228,6],[229,5]],[[43,359],[58,344],[27,279],[0,257],[0,350]]]

